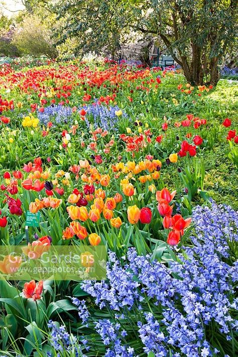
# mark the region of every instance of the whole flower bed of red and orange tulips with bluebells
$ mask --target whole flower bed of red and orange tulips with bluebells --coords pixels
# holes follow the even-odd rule
[[[237,213],[206,190],[212,161],[235,187],[232,95],[108,60],[0,72],[3,354],[235,355]]]

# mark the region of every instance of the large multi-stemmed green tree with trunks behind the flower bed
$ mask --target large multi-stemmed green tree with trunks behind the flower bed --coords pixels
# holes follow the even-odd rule
[[[130,33],[160,37],[187,80],[215,84],[226,51],[237,47],[236,0],[63,0],[57,43],[77,37],[76,52],[107,48],[115,55]]]

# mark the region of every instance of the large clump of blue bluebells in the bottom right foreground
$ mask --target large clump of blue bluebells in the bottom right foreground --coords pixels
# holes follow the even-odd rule
[[[115,326],[103,320],[103,334],[96,327],[108,342],[107,355],[127,355],[116,354],[113,342],[121,345],[121,329],[127,332],[124,346],[140,336],[133,344],[135,356],[142,350],[175,357],[238,353],[238,215],[212,202],[195,208],[193,222],[193,246],[185,248],[170,267],[131,249],[125,264],[109,254],[107,282],[83,283],[82,289],[117,320]],[[111,331],[111,337],[105,331]]]

